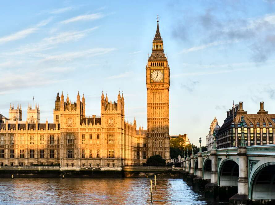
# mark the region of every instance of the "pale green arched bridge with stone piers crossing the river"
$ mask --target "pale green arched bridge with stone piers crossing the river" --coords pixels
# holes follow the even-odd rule
[[[184,180],[206,199],[275,204],[275,144],[212,149],[186,157]]]

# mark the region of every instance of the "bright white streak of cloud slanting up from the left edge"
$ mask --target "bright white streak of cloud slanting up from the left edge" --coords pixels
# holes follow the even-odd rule
[[[28,36],[28,35],[34,33],[35,31],[37,31],[39,29],[39,27],[47,25],[51,21],[51,19],[52,18],[41,21],[40,23],[38,23],[34,27],[26,28],[26,29],[23,29],[22,31],[18,31],[18,32],[15,32],[15,33],[10,34],[8,36],[1,37],[0,38],[0,44],[1,43],[6,43],[6,42],[9,42],[9,41],[23,39],[26,36]]]

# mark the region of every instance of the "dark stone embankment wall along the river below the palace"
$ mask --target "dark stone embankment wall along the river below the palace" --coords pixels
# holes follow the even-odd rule
[[[183,178],[182,168],[172,167],[57,167],[5,166],[0,178]]]

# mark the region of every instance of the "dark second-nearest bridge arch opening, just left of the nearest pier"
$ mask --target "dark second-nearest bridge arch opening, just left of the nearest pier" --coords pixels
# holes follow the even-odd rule
[[[218,170],[218,186],[238,186],[239,165],[233,159],[225,159]]]

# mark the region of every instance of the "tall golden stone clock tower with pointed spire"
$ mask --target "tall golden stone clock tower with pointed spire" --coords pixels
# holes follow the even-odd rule
[[[153,40],[152,54],[146,65],[147,87],[147,137],[148,156],[159,154],[170,159],[169,137],[169,87],[170,68],[163,52],[163,40],[157,31]]]

